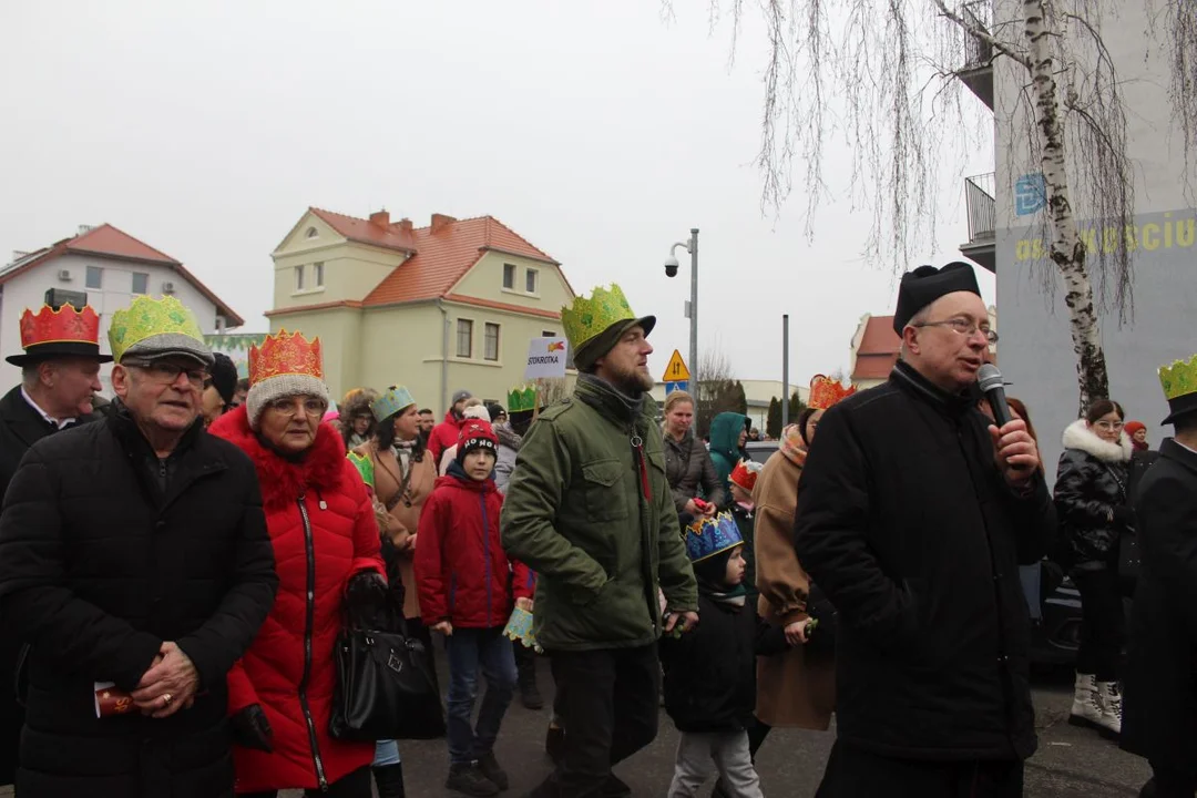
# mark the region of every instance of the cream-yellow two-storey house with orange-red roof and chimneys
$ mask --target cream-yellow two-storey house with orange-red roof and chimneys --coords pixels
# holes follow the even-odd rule
[[[334,397],[403,384],[438,414],[460,389],[505,404],[529,341],[564,335],[575,298],[561,264],[493,217],[308,208],[272,257],[271,330],[321,337]]]

